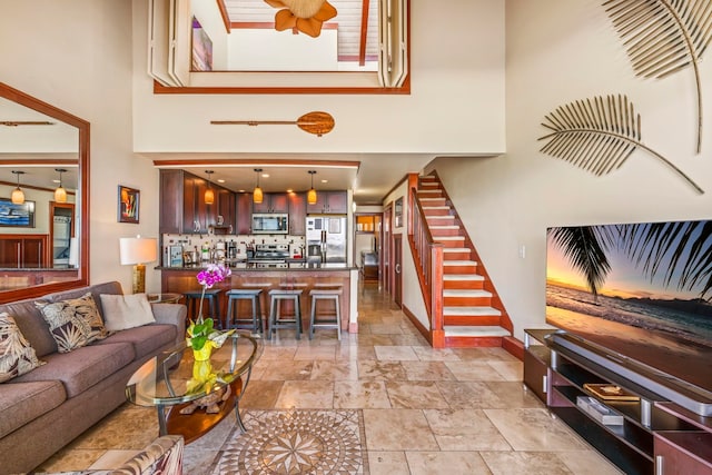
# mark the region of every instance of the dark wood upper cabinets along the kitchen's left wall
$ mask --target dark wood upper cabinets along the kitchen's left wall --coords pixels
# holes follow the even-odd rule
[[[205,234],[208,227],[217,224],[220,206],[234,218],[233,192],[210,184],[216,202],[206,205],[206,179],[184,170],[160,170],[159,190],[159,231],[161,234]]]

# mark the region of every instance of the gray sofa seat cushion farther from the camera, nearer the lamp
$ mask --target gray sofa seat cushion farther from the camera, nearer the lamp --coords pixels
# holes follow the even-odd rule
[[[47,355],[43,358],[46,365],[12,380],[24,383],[59,379],[69,398],[128,365],[135,355],[134,347],[128,343],[89,345],[70,353]]]

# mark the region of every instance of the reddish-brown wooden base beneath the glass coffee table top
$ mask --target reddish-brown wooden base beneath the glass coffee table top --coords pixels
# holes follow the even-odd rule
[[[166,434],[181,435],[186,444],[198,439],[202,435],[207,434],[212,427],[218,425],[228,414],[235,409],[237,423],[244,431],[243,422],[240,420],[238,400],[240,393],[243,392],[243,378],[238,378],[230,384],[233,394],[227,400],[220,403],[220,412],[216,414],[208,414],[205,408],[198,408],[192,414],[180,414],[180,409],[190,406],[192,403],[178,404],[170,406],[165,413],[166,417]],[[165,410],[162,407],[158,407],[159,417],[160,412]],[[165,434],[161,434],[165,435]]]

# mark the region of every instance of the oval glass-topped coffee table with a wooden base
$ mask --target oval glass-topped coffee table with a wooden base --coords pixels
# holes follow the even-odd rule
[[[233,409],[246,432],[239,400],[263,349],[259,335],[236,331],[212,350],[209,360],[196,362],[184,342],[138,368],[126,386],[126,397],[139,406],[155,406],[159,435],[182,435],[186,444],[206,434]]]

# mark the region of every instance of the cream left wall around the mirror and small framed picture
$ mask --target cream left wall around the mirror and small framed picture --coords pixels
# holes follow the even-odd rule
[[[131,2],[0,0],[0,80],[91,123],[90,279],[130,293],[118,239],[158,230],[158,172],[131,150]],[[119,184],[141,190],[140,225],[117,222]],[[160,287],[151,266],[146,286]]]

